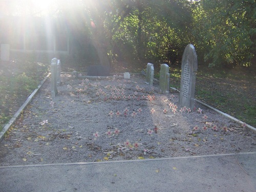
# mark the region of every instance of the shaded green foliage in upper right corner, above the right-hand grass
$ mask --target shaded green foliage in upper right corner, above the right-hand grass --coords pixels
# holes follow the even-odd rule
[[[209,63],[248,66],[255,52],[254,1],[202,0],[194,9],[195,44]]]

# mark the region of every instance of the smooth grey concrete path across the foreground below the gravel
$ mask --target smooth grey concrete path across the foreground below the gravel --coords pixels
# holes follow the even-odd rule
[[[1,192],[256,191],[256,152],[0,167]]]

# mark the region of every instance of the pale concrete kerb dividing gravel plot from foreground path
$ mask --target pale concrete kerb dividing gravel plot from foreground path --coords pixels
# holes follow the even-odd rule
[[[134,159],[134,160],[116,160],[116,161],[99,161],[99,162],[75,162],[75,163],[52,163],[52,164],[30,164],[30,165],[9,165],[0,166],[1,168],[13,168],[13,167],[43,167],[43,166],[63,166],[63,165],[86,165],[86,164],[109,164],[109,163],[133,163],[133,162],[147,162],[147,161],[164,161],[174,159],[195,159],[195,158],[209,158],[209,157],[224,157],[224,156],[238,156],[238,155],[253,155],[256,152],[241,152],[230,154],[212,154],[212,155],[198,155],[198,156],[184,156],[184,157],[166,157],[155,159]]]

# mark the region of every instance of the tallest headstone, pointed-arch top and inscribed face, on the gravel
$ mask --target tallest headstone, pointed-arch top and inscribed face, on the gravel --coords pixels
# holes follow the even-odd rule
[[[182,55],[179,104],[190,109],[194,109],[195,105],[197,67],[196,49],[189,44]]]

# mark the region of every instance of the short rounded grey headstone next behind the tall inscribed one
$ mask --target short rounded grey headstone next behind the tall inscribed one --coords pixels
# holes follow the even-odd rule
[[[159,79],[160,91],[162,93],[169,93],[169,84],[170,84],[169,66],[167,64],[162,64],[160,68],[160,79]]]

